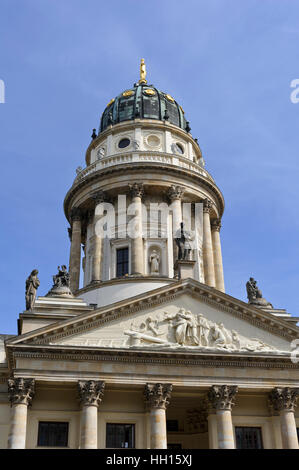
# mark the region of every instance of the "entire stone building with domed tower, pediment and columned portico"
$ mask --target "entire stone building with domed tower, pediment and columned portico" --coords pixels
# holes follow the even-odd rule
[[[32,272],[1,336],[1,448],[298,448],[298,319],[253,279],[248,303],[225,293],[224,200],[190,131],[142,61],[65,197],[69,270],[36,299]]]

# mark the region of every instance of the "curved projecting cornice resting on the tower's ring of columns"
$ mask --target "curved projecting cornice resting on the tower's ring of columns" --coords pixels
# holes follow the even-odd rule
[[[187,170],[186,168],[175,167],[170,164],[163,164],[161,167],[161,163],[159,162],[132,162],[130,164],[121,164],[121,165],[113,165],[108,168],[103,168],[101,170],[95,171],[89,175],[87,175],[83,181],[79,181],[77,184],[73,185],[69,191],[67,192],[65,199],[64,199],[64,213],[68,221],[70,222],[69,211],[71,209],[72,199],[75,195],[82,189],[86,188],[86,186],[93,184],[95,181],[99,182],[101,180],[105,180],[108,175],[113,174],[125,174],[128,177],[128,171],[132,174],[141,173],[141,176],[144,174],[145,170],[151,170],[154,173],[163,173],[163,178],[165,178],[165,172],[171,175],[179,176],[180,179],[182,176],[186,180],[192,181],[196,185],[201,185],[205,188],[210,194],[214,196],[214,198],[218,202],[218,210],[219,210],[219,218],[222,217],[224,212],[224,198],[223,195],[218,188],[218,186],[208,178],[203,175],[199,175],[198,173]],[[143,180],[143,178],[142,178]],[[183,181],[182,181],[183,183]],[[144,183],[146,186],[146,183]],[[181,184],[183,186],[183,184]]]

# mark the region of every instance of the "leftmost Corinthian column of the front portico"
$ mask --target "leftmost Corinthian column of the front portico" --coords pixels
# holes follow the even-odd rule
[[[8,449],[25,449],[27,410],[34,396],[34,385],[34,379],[8,379],[9,400],[12,406]]]

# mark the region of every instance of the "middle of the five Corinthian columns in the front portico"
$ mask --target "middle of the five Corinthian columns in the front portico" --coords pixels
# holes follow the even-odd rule
[[[146,384],[144,395],[150,410],[151,449],[167,449],[166,407],[172,392],[171,384]]]

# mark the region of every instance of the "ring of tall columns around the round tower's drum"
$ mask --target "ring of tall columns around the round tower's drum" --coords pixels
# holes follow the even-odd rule
[[[142,239],[142,197],[144,195],[143,185],[133,183],[129,185],[131,200],[134,207],[134,237],[131,238],[131,274],[142,276],[145,273],[144,267],[144,247]],[[171,202],[173,214],[173,231],[176,233],[180,229],[182,221],[182,198],[184,190],[180,186],[171,186],[167,196]],[[89,249],[91,257],[91,282],[101,280],[102,268],[102,238],[96,233],[95,227],[99,219],[98,206],[105,201],[103,191],[98,191],[92,196],[94,200],[94,213],[92,223],[92,236],[89,238]],[[202,256],[205,283],[211,287],[224,292],[223,264],[220,242],[220,219],[213,219],[210,216],[213,204],[209,199],[203,201],[203,222],[202,222]],[[71,248],[70,248],[70,288],[72,292],[79,289],[80,263],[81,263],[81,233],[83,213],[79,208],[71,211]],[[174,241],[174,253],[177,247]],[[176,258],[176,255],[174,256]],[[176,259],[173,260],[174,262]]]

